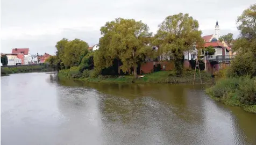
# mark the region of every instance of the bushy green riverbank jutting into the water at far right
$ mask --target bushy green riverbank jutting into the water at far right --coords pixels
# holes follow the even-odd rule
[[[256,113],[256,77],[223,78],[206,92],[218,102]]]

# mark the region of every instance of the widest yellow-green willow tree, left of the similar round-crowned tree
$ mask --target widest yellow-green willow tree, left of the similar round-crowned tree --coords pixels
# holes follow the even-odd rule
[[[149,27],[141,21],[118,18],[101,27],[101,34],[103,37],[99,39],[99,49],[94,56],[96,69],[108,68],[118,59],[122,62],[120,69],[126,72],[132,67],[137,78],[138,64],[152,50]]]

